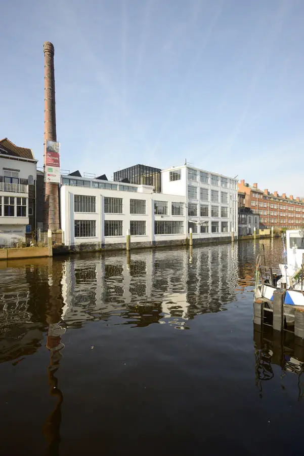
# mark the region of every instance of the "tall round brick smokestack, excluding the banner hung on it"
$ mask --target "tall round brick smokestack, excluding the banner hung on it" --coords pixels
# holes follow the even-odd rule
[[[54,46],[49,41],[44,43],[45,54],[45,144],[44,166],[46,171],[46,144],[47,140],[57,141],[56,111],[55,111],[55,73],[54,73]],[[59,188],[58,183],[45,182],[45,230],[58,230],[59,219]]]

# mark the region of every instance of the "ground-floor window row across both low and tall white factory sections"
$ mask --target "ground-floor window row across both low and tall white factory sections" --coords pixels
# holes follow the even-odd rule
[[[199,228],[200,226],[200,228]],[[209,221],[203,222],[198,225],[197,223],[188,222],[188,232],[190,228],[193,233],[209,233]],[[145,236],[146,235],[146,221],[145,220],[131,220],[130,221],[131,236]],[[211,221],[211,233],[227,233],[227,221]],[[110,236],[123,236],[122,220],[105,220],[104,221],[105,237]],[[171,220],[155,220],[154,221],[154,234],[167,235],[167,234],[184,234],[183,221]],[[74,235],[75,238],[91,238],[96,237],[96,220],[75,220],[74,222]]]

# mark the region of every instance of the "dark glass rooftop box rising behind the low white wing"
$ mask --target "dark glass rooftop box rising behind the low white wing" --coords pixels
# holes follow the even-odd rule
[[[156,193],[161,193],[160,169],[146,165],[134,165],[114,173],[114,181],[128,179],[130,183],[138,185],[153,185]]]

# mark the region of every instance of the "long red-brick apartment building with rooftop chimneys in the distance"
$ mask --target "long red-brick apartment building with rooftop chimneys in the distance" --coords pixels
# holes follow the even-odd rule
[[[260,229],[276,226],[295,230],[304,226],[304,201],[300,198],[293,198],[293,195],[287,197],[285,193],[270,193],[267,188],[263,191],[257,183],[251,186],[244,179],[238,183],[238,191],[245,194],[245,207],[259,214]]]

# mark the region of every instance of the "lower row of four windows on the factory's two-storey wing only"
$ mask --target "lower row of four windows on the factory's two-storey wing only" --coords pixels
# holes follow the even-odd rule
[[[146,220],[131,220],[130,233],[131,236],[145,236]],[[104,234],[105,237],[123,236],[122,220],[105,220]],[[154,234],[184,234],[184,222],[157,220],[154,222]],[[74,235],[75,238],[96,237],[96,220],[75,220]]]

